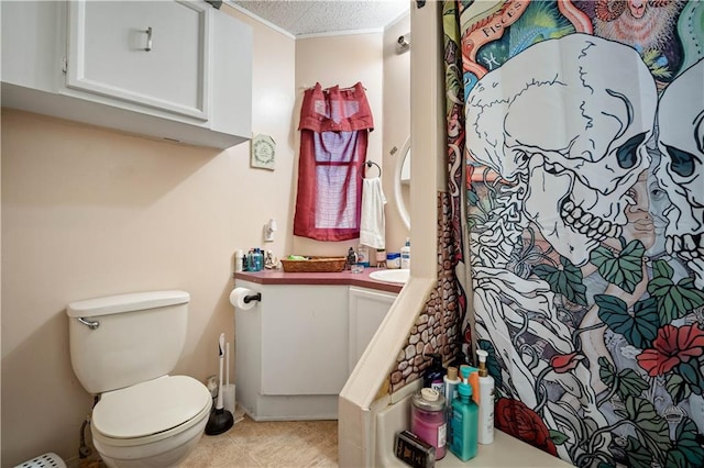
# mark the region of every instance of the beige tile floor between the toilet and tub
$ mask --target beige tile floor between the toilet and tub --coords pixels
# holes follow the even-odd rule
[[[249,416],[224,434],[204,435],[182,468],[337,467],[337,421],[263,421]]]

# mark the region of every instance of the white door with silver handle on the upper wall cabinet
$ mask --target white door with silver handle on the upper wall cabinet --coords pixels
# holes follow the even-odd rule
[[[70,1],[66,86],[206,121],[211,7]]]

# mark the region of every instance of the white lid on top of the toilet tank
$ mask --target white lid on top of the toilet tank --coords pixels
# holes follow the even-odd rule
[[[70,317],[99,316],[184,304],[188,301],[190,294],[186,291],[131,292],[72,302],[66,308],[66,313]]]

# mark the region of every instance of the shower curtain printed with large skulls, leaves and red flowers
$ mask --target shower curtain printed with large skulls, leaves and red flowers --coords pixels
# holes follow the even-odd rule
[[[704,466],[704,2],[443,2],[468,339],[495,425]]]

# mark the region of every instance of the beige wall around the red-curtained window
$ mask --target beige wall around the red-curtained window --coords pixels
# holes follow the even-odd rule
[[[367,159],[382,166],[382,186],[387,198],[386,245],[398,252],[408,236],[396,209],[394,174],[400,149],[410,134],[410,54],[396,54],[399,35],[410,31],[410,15],[398,19],[378,33],[318,36],[296,41],[296,109],[292,125],[292,143],[298,152],[298,114],[302,93],[316,82],[326,87],[348,87],[361,81],[374,115],[370,133]],[[392,148],[398,152],[391,156]],[[297,177],[297,159],[294,178]],[[374,169],[370,169],[374,170]],[[295,200],[296,186],[292,191]],[[294,209],[290,221],[293,223]],[[358,241],[323,243],[293,237],[292,253],[345,255]]]

